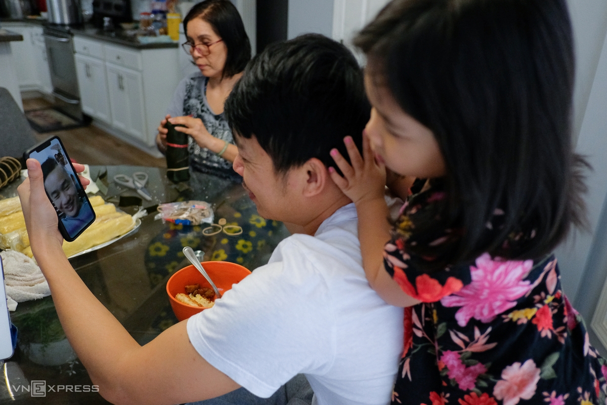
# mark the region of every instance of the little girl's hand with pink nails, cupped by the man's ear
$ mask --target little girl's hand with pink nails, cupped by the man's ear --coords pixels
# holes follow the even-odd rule
[[[362,157],[351,137],[345,137],[344,143],[351,165],[337,149],[332,149],[331,157],[344,174],[342,177],[334,168],[329,168],[333,182],[356,205],[364,200],[384,200],[385,165],[373,156],[367,134],[362,132]]]

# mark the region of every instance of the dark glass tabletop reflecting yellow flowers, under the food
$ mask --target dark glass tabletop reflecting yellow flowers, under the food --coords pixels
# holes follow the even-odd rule
[[[265,220],[240,184],[212,175],[191,173],[177,185],[166,179],[166,169],[141,166],[91,166],[93,180],[100,175],[109,186],[107,202],[131,203],[137,193],[122,189],[111,179],[116,174],[148,173],[152,201],[143,201],[148,215],[137,233],[97,251],[73,257],[70,262],[84,283],[116,316],[141,345],[177,323],[166,294],[166,282],[176,270],[189,265],[181,250],[190,246],[205,252],[204,260],[225,260],[249,270],[266,264],[280,240],[289,235],[285,226]],[[16,180],[0,190],[0,198],[16,196]],[[154,219],[159,203],[203,200],[211,203],[214,222],[225,218],[243,233],[204,236],[201,226],[183,226]],[[134,214],[137,206],[119,206]],[[74,302],[74,305],[78,305]],[[15,355],[2,365],[0,403],[106,404],[94,392],[86,369],[67,342],[52,297],[21,302],[12,312],[19,338]],[[42,395],[44,394],[44,395]]]

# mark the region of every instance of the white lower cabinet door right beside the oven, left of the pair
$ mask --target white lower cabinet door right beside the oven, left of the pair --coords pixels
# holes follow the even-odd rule
[[[76,74],[82,111],[93,118],[111,123],[106,66],[103,60],[76,53]]]

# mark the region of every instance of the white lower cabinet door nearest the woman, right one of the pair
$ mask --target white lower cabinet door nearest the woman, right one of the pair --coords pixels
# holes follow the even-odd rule
[[[148,143],[141,73],[110,63],[106,63],[106,69],[112,124]]]

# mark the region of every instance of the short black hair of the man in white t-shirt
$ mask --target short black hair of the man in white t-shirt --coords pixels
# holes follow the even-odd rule
[[[361,149],[370,105],[352,53],[307,34],[255,56],[226,100],[225,114],[235,136],[256,137],[274,169],[285,173],[313,157],[334,166],[329,151],[347,157],[347,135]]]

